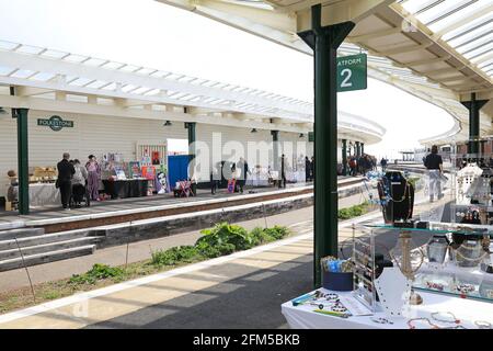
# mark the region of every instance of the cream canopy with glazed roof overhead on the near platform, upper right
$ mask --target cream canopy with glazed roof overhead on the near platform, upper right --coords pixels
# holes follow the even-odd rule
[[[455,126],[422,140],[468,138],[460,103],[493,98],[493,0],[157,0],[205,15],[312,55],[297,33],[311,29],[312,5],[322,25],[356,23],[339,55],[365,52],[368,75],[446,110]],[[385,98],[383,98],[385,99]],[[481,110],[481,134],[491,134],[493,101]]]

